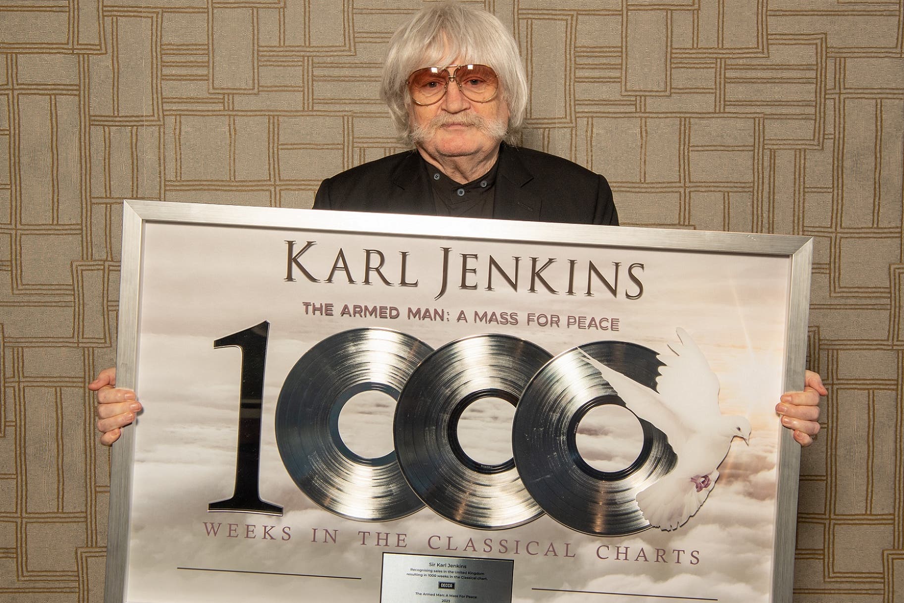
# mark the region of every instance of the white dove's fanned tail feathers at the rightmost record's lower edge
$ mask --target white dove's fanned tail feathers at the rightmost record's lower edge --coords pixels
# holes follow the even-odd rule
[[[665,476],[637,493],[637,506],[650,525],[665,531],[674,530],[697,513],[718,478],[719,472],[713,471],[710,484],[697,492],[697,486],[687,477]]]

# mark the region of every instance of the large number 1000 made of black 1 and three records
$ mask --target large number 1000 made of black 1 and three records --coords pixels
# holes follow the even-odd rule
[[[209,511],[275,515],[283,512],[281,506],[268,503],[259,495],[260,429],[268,334],[269,323],[264,321],[213,342],[214,348],[239,347],[242,360],[235,489],[230,498],[209,504]],[[388,353],[388,349],[393,352]],[[596,506],[581,508],[579,512],[568,513],[568,516],[628,513],[636,515],[636,524],[626,528],[628,531],[625,533],[636,532],[645,527],[645,522],[639,516],[633,499],[628,500],[622,495],[626,481],[636,481],[634,474],[639,474],[641,482],[652,483],[672,470],[676,457],[664,433],[639,419],[644,430],[644,443],[631,466],[606,473],[583,461],[575,442],[579,420],[597,406],[624,406],[617,392],[600,375],[580,372],[595,371],[584,366],[581,360],[588,354],[595,355],[601,362],[609,363],[617,371],[649,388],[655,387],[658,369],[662,365],[653,350],[626,342],[583,344],[551,359],[551,354],[536,345],[504,334],[472,335],[436,351],[410,335],[388,329],[354,329],[334,334],[308,350],[283,383],[276,414],[276,438],[283,466],[299,489],[315,504],[351,519],[398,519],[414,513],[426,503],[447,519],[473,527],[512,527],[532,521],[541,511],[546,511],[575,529],[609,533],[608,528],[598,530],[583,523],[574,525],[567,518],[556,517],[556,509],[551,508],[550,501],[541,500],[543,495],[537,493],[545,492],[542,488],[546,487],[547,468],[534,466],[538,466],[538,458],[554,457],[553,465],[558,467],[555,471],[562,474],[561,479],[574,480],[575,487],[592,489],[595,494],[591,498],[600,501]],[[501,357],[507,360],[497,363],[496,360]],[[449,391],[455,400],[434,400],[431,397],[434,393],[429,393],[434,390],[425,390],[424,384],[436,380],[447,383],[449,375],[446,372],[460,376],[459,373],[469,370],[459,366],[459,363],[466,367],[474,364],[470,370],[476,373],[466,378],[466,382],[459,382],[454,391]],[[564,371],[560,368],[562,365],[566,367]],[[499,372],[504,374],[496,374]],[[550,373],[558,376],[550,379]],[[561,375],[567,375],[568,379]],[[569,383],[575,379],[583,383],[579,388],[579,400],[566,400],[571,391]],[[475,388],[476,391],[470,391]],[[557,388],[564,389],[559,391]],[[391,455],[377,459],[354,455],[344,446],[337,431],[338,413],[344,401],[356,392],[369,389],[389,393],[400,400],[393,429],[396,449]],[[427,400],[424,396],[429,399],[426,406],[421,404]],[[513,459],[498,466],[484,466],[467,457],[455,433],[461,412],[471,402],[486,396],[508,400],[516,406],[513,432],[523,433],[522,437],[513,438]],[[413,407],[412,400],[417,402]],[[550,406],[549,400],[559,401]],[[489,494],[481,498],[481,504],[493,507],[501,516],[508,513],[510,506],[527,509],[524,511],[526,515],[516,519],[499,519],[498,523],[495,519],[484,518],[472,522],[467,513],[461,512],[463,505],[466,506],[461,501],[452,505],[455,508],[447,509],[442,500],[430,498],[431,492],[443,490],[435,487],[437,484],[431,482],[426,491],[423,488],[419,490],[410,481],[408,473],[402,476],[406,470],[415,473],[415,483],[421,485],[422,479],[418,476],[441,473],[440,466],[431,464],[438,462],[438,452],[427,450],[423,442],[418,443],[417,434],[425,429],[430,433],[441,431],[439,435],[434,434],[435,438],[443,439],[443,447],[454,453],[439,455],[447,457],[443,461],[444,466],[449,463],[456,465],[449,469],[448,475],[443,473],[447,479],[455,481],[456,476],[460,477],[462,472],[468,471],[482,474],[478,481],[486,481],[488,485],[499,482],[501,485],[496,488],[498,496],[490,487]],[[551,433],[553,431],[556,433]],[[543,437],[538,439],[538,433]],[[434,436],[426,438],[432,442]],[[401,451],[398,449],[400,446]],[[538,447],[546,451],[540,457],[536,457],[535,448]],[[400,464],[400,455],[405,463]],[[322,458],[317,464],[312,457]],[[349,468],[337,474],[336,465]],[[442,482],[442,479],[439,481]],[[370,486],[365,484],[371,482]],[[334,485],[337,483],[351,484],[347,489],[353,494],[343,499],[337,493],[344,491],[345,487],[340,485],[336,490]],[[503,495],[521,491],[524,486],[532,491],[534,500],[527,491],[523,495],[515,493],[513,500]],[[577,498],[581,499],[580,496]],[[355,502],[346,503],[344,500]],[[559,500],[558,495],[556,500]],[[578,501],[575,504],[581,503]],[[553,507],[558,505],[555,503]]]

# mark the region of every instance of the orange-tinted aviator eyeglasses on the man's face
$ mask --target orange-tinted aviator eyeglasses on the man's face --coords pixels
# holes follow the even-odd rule
[[[496,72],[486,65],[448,65],[425,67],[408,76],[408,92],[411,100],[422,107],[438,103],[446,96],[450,81],[467,99],[486,102],[494,99],[499,91]]]

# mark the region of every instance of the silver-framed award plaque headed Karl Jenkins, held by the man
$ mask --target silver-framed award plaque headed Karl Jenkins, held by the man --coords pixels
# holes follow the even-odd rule
[[[790,601],[811,246],[126,202],[105,600]]]

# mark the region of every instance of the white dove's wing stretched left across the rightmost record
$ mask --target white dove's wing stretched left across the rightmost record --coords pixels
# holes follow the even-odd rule
[[[669,444],[675,454],[681,457],[681,448],[684,448],[687,443],[690,430],[678,418],[673,409],[664,402],[663,396],[621,372],[610,369],[606,364],[600,363],[583,350],[581,353],[584,354],[584,359],[603,375],[603,379],[612,386],[627,408],[639,418],[653,423],[657,429],[662,431],[669,439]]]

